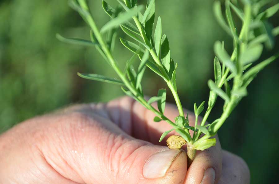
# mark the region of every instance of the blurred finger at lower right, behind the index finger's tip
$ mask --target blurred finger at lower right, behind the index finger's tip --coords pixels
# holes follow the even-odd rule
[[[245,161],[223,150],[223,170],[218,184],[249,184],[250,171]]]

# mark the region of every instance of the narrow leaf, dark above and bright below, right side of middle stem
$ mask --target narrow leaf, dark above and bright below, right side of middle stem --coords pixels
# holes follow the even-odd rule
[[[163,35],[162,37],[162,48],[161,48],[161,58],[162,58],[162,64],[165,67],[167,73],[170,71],[170,46],[169,46],[169,40],[166,37],[166,35]]]

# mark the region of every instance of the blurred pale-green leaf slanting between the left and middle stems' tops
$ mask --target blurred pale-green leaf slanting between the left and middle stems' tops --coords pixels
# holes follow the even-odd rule
[[[131,19],[134,15],[136,15],[143,6],[137,6],[127,12],[124,12],[122,14],[119,14],[116,18],[110,20],[108,23],[106,23],[102,28],[100,32],[108,31],[109,29],[115,28],[119,26],[120,24],[128,21]]]

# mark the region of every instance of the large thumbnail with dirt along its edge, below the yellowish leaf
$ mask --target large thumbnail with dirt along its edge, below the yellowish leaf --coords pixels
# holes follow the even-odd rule
[[[166,174],[172,161],[181,151],[179,149],[169,149],[159,153],[155,153],[145,162],[143,167],[143,175],[145,178],[159,178]]]

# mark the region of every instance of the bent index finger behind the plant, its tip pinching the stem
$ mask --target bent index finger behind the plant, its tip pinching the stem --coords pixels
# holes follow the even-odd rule
[[[123,110],[123,106],[126,107],[126,110]],[[115,109],[117,109],[117,112],[115,112]],[[131,112],[129,109],[131,109]],[[113,121],[120,122],[120,127],[131,124],[131,130],[129,132],[132,132],[133,136],[142,140],[150,141],[153,144],[158,144],[158,140],[162,133],[172,128],[165,121],[155,123],[153,121],[155,114],[146,110],[139,102],[134,102],[131,98],[124,97],[113,100],[108,103],[107,110],[112,117],[116,114],[118,115]],[[123,116],[129,115],[131,116],[131,119],[123,120]],[[175,119],[175,117],[179,115],[177,107],[175,107],[175,105],[166,104],[165,115],[169,119]],[[189,112],[190,125],[193,126],[194,122],[195,117],[193,113]],[[173,134],[177,133],[172,132],[170,135]],[[207,178],[204,179],[204,182],[219,180],[222,170],[222,153],[218,136],[215,136],[215,138],[217,143],[214,147],[202,152],[197,151],[196,158],[188,169],[186,183],[201,183],[204,175]],[[166,141],[163,140],[162,144],[166,145]],[[205,172],[207,169],[209,170]],[[211,175],[207,176],[207,174]]]

